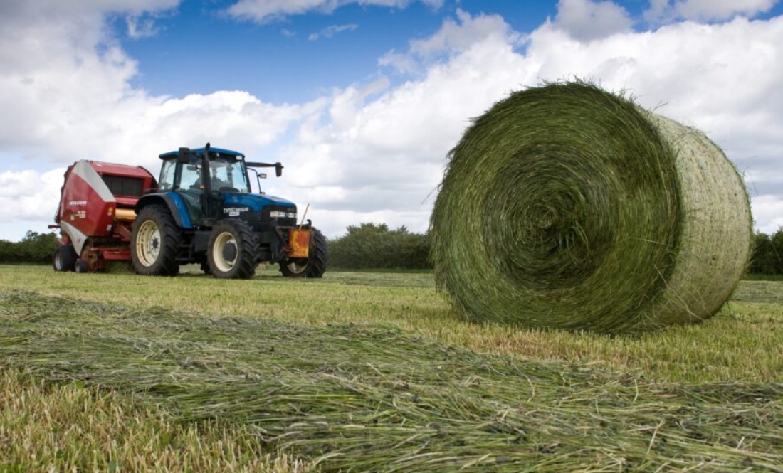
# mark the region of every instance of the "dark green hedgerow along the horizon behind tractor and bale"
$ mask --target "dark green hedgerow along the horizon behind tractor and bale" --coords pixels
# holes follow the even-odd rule
[[[749,274],[783,274],[783,228],[756,232]],[[330,266],[345,269],[430,269],[430,236],[387,224],[350,225],[330,238]],[[57,246],[54,232],[27,231],[20,242],[0,240],[0,263],[49,264]]]

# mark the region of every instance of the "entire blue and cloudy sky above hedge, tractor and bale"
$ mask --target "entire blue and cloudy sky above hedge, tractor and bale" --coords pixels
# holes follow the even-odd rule
[[[209,141],[329,236],[425,231],[446,153],[511,90],[586,77],[704,130],[783,225],[778,0],[0,3],[0,239],[47,231],[76,159]]]

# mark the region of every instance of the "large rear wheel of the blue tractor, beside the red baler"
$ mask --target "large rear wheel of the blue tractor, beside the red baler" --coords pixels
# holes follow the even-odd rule
[[[177,252],[182,230],[164,206],[146,206],[133,222],[131,261],[138,274],[175,276],[179,274]]]

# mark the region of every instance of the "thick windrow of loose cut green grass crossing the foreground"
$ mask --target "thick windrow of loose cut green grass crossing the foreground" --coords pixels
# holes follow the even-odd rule
[[[0,294],[0,367],[250,428],[323,471],[783,471],[783,385],[686,385],[357,324]]]

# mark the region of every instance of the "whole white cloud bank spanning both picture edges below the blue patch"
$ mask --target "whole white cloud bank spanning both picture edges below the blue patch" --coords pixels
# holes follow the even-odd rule
[[[587,41],[558,23],[562,12],[518,32],[500,16],[460,11],[431,37],[389,53],[396,59],[387,65],[407,61],[415,72],[407,81],[376,77],[298,104],[265,103],[246,91],[150,96],[129,85],[138,66],[105,38],[99,16],[35,19],[25,30],[0,16],[0,44],[16,41],[0,48],[0,106],[19,111],[0,128],[0,154],[41,168],[0,174],[0,189],[13,189],[0,191],[0,208],[13,208],[3,199],[29,199],[40,209],[29,215],[46,224],[60,168],[74,159],[139,163],[155,173],[157,153],[209,140],[254,160],[283,161],[286,173],[265,181],[265,191],[310,203],[309,217],[327,235],[363,221],[424,231],[446,153],[471,117],[511,90],[583,77],[702,128],[753,183],[758,228],[783,223],[783,17],[617,29]],[[31,180],[41,185],[22,185]],[[22,218],[0,214],[2,228],[32,221]]]

